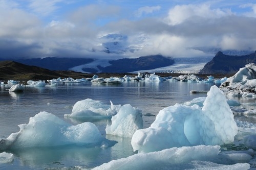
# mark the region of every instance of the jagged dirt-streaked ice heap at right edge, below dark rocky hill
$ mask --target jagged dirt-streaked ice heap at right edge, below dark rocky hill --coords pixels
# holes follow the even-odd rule
[[[247,64],[226,82],[222,83],[220,88],[231,96],[250,96],[256,98],[256,65]]]

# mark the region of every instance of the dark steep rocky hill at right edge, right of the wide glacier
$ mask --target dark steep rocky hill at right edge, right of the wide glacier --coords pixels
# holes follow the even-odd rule
[[[256,52],[243,56],[230,56],[218,52],[199,74],[235,74],[239,68],[249,63],[256,63]]]

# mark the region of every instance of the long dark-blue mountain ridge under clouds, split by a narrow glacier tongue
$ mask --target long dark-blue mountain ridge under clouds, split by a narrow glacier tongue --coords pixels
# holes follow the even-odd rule
[[[154,69],[174,64],[171,58],[163,57],[162,55],[144,56],[139,58],[124,58],[119,60],[104,60],[106,63],[94,65],[95,59],[91,58],[33,58],[33,59],[14,59],[13,61],[31,66],[38,66],[49,70],[73,70],[73,67],[81,67],[80,72],[109,72],[122,73],[132,72],[136,70]],[[92,64],[91,64],[92,63]],[[77,71],[77,70],[76,70]]]

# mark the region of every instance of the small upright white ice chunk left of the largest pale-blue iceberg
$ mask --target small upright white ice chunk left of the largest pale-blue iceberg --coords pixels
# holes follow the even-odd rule
[[[142,111],[130,104],[123,105],[111,122],[111,125],[106,125],[106,134],[132,137],[136,130],[143,127]]]

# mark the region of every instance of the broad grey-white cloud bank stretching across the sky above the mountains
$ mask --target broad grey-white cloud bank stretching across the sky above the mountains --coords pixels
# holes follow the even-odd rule
[[[30,4],[30,8],[37,12],[40,11],[40,5],[44,8],[51,7],[41,11],[45,15],[54,12],[61,4],[60,0],[45,0],[45,5],[39,1],[33,2],[35,3],[33,6]],[[246,4],[241,7],[254,9],[255,5]],[[137,15],[150,14],[163,10],[162,8],[143,7],[137,11]],[[101,52],[92,53],[104,50],[98,46],[101,42],[97,37],[100,33],[113,32],[127,35],[127,45],[138,45],[142,48],[134,53],[125,53],[125,57],[153,54],[172,57],[201,56],[205,54],[193,48],[202,46],[223,50],[256,50],[256,17],[248,17],[253,16],[253,10],[250,15],[238,15],[229,9],[213,8],[210,3],[188,4],[171,7],[165,16],[133,20],[131,15],[123,17],[120,7],[89,5],[66,13],[59,17],[61,20],[53,18],[46,25],[40,20],[41,16],[35,15],[35,11],[29,12],[16,3],[0,0],[1,52],[23,57],[101,57]],[[142,34],[146,41],[137,42],[136,36]]]

